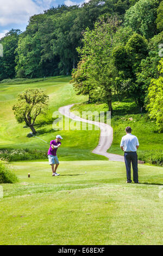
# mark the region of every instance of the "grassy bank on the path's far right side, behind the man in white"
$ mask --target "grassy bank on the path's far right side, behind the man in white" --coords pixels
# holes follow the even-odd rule
[[[112,102],[114,116],[111,118],[111,126],[114,130],[114,138],[109,153],[123,155],[120,149],[122,136],[126,135],[125,128],[131,126],[133,134],[139,139],[139,151],[147,149],[162,149],[162,133],[155,131],[155,124],[147,118],[147,114],[139,114],[135,102],[130,99],[123,99],[121,102],[114,99]],[[74,105],[71,111],[108,111],[106,104],[86,104]],[[129,118],[133,120],[129,120]]]

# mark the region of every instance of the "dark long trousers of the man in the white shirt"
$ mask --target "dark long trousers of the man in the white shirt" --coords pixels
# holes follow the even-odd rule
[[[134,182],[138,182],[138,169],[137,169],[137,153],[124,152],[124,161],[126,164],[127,181],[131,182],[131,163],[133,166],[133,179]]]

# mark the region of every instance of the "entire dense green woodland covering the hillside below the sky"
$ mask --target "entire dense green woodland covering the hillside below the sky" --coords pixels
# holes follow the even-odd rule
[[[0,40],[0,81],[71,75],[90,102],[132,97],[163,126],[163,1],[91,0],[30,17]]]

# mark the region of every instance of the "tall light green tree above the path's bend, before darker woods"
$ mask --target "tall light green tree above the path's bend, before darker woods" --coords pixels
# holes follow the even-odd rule
[[[91,84],[91,97],[106,102],[109,111],[112,111],[111,95],[116,72],[112,65],[111,50],[113,36],[119,25],[120,21],[116,17],[102,17],[92,31],[86,29],[83,48],[78,48],[81,58],[86,60],[86,77]]]

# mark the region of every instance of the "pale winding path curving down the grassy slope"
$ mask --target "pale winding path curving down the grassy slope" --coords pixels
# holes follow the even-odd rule
[[[108,157],[109,161],[124,162],[124,157],[123,156],[107,153],[107,150],[110,148],[110,146],[112,144],[112,139],[113,139],[112,127],[108,124],[83,119],[83,118],[78,117],[77,115],[74,115],[72,112],[70,112],[70,108],[73,105],[74,104],[60,107],[58,109],[58,111],[62,115],[65,115],[65,117],[68,117],[72,120],[82,121],[84,123],[97,125],[99,127],[99,129],[101,129],[99,143],[98,143],[97,147],[95,149],[93,149],[92,153],[97,154],[97,155],[106,156],[106,157]]]

